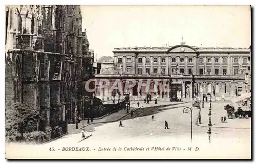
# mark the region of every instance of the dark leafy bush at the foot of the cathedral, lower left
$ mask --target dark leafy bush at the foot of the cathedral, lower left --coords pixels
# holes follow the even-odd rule
[[[34,131],[39,120],[38,111],[28,104],[16,103],[6,110],[6,137],[15,141],[24,138],[25,132]]]

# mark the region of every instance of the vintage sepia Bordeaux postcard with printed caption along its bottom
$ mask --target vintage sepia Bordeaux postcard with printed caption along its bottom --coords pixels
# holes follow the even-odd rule
[[[251,159],[250,6],[5,6],[7,159]]]

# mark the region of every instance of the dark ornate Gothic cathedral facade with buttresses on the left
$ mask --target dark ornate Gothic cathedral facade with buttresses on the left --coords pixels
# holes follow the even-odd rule
[[[27,103],[42,126],[74,123],[97,65],[81,25],[78,5],[6,7],[6,110]]]

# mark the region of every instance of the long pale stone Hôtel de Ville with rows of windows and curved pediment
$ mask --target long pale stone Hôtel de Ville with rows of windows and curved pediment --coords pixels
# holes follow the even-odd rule
[[[143,100],[147,95],[158,100],[195,100],[201,95],[204,100],[225,101],[250,92],[250,48],[198,48],[186,45],[168,47],[115,48],[112,75],[98,74],[99,79],[121,79],[120,90],[109,88],[97,90],[97,97],[118,100],[122,92],[130,92],[132,100]],[[123,90],[125,79],[151,79],[151,88],[145,91],[133,88]],[[154,80],[158,81],[155,84]],[[168,92],[153,90],[167,81]],[[97,86],[96,86],[97,87]],[[120,96],[119,96],[120,95]]]

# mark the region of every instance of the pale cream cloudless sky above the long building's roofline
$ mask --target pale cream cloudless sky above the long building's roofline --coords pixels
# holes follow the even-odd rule
[[[249,48],[249,6],[81,6],[82,29],[99,59],[114,48],[174,46]]]

